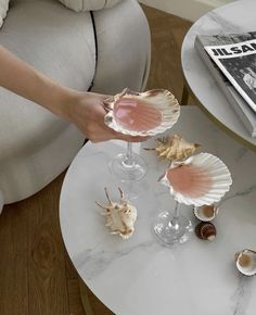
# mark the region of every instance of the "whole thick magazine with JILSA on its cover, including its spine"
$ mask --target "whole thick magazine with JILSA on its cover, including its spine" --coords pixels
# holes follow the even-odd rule
[[[199,35],[194,46],[245,128],[256,137],[256,32]]]

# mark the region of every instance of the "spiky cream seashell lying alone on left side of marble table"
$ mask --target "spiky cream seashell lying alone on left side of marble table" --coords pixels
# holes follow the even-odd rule
[[[121,238],[127,239],[131,237],[135,231],[137,209],[125,200],[124,192],[120,188],[118,189],[120,191],[120,200],[118,202],[114,202],[110,199],[107,189],[105,188],[108,205],[103,206],[98,202],[97,204],[105,210],[103,215],[106,216],[106,226],[110,227],[111,234],[119,235]]]

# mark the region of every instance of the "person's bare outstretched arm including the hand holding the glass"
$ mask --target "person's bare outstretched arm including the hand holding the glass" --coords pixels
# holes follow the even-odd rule
[[[108,139],[141,141],[104,124],[106,96],[61,86],[0,46],[0,86],[74,123],[93,142]]]

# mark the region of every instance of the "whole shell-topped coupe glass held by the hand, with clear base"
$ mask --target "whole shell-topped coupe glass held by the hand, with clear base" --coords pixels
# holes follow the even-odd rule
[[[154,136],[169,129],[178,121],[180,105],[168,90],[155,89],[123,92],[104,100],[107,111],[105,124],[117,133],[129,136]],[[140,180],[148,169],[145,161],[132,152],[128,142],[126,153],[118,154],[111,163],[110,169],[115,177],[124,180]]]

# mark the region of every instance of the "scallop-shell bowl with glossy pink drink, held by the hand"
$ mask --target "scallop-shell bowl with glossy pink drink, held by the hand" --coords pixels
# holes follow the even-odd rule
[[[105,124],[130,136],[154,136],[171,128],[180,115],[180,105],[168,90],[123,92],[104,101],[108,113]]]

